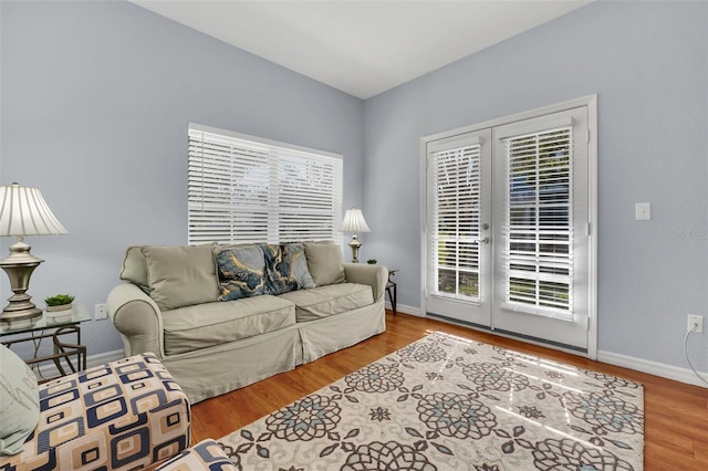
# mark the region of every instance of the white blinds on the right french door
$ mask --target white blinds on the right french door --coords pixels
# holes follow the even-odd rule
[[[506,139],[506,307],[572,318],[572,127]]]

